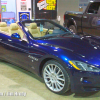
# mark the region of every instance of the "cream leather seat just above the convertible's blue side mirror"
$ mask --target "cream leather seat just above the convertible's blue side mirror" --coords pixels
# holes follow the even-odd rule
[[[16,23],[10,24],[9,34],[12,35],[13,33],[18,33],[21,38],[24,36],[24,33],[19,29]]]

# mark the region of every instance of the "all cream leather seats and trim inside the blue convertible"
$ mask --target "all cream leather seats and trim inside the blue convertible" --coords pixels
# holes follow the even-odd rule
[[[27,28],[33,37],[45,36],[47,34],[47,32],[49,34],[53,33],[52,29],[48,30],[47,28],[43,28],[41,31],[40,27],[37,27],[37,23],[30,23],[30,25],[27,26]],[[17,22],[12,23],[10,26],[7,26],[6,22],[0,22],[0,31],[4,34],[10,35],[10,36],[13,33],[18,33],[21,38],[23,38],[23,36],[24,36],[24,33],[18,26]]]

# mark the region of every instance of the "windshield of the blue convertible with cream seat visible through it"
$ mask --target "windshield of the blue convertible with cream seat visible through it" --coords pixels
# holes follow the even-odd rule
[[[37,39],[53,38],[72,34],[68,29],[51,20],[34,20],[23,22],[27,32]]]

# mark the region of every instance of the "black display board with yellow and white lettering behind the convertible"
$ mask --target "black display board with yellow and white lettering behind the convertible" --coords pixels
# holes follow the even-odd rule
[[[56,19],[57,0],[35,0],[36,19]]]

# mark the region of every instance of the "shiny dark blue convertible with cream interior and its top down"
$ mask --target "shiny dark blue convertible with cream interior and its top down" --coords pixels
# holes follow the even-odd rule
[[[1,22],[0,59],[39,75],[54,93],[100,90],[100,38],[50,20]]]

